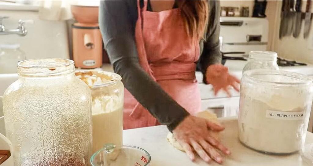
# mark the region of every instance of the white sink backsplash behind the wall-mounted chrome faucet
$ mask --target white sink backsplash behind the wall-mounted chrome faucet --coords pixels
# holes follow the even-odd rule
[[[69,58],[67,28],[65,21],[44,21],[38,18],[36,7],[9,7],[0,4],[0,16],[9,16],[3,23],[7,29],[16,29],[18,20],[34,21],[25,24],[28,34],[24,37],[16,34],[0,35],[0,44],[19,43],[28,59],[33,58]]]

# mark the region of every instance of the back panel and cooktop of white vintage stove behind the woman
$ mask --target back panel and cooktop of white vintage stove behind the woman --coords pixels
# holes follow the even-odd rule
[[[220,23],[221,51],[223,53],[244,52],[243,54],[225,54],[225,56],[248,58],[250,51],[266,51],[269,32],[269,23],[266,18],[221,17]],[[248,61],[227,59],[225,66],[231,73],[241,78],[242,69],[247,63]],[[280,70],[313,76],[313,65],[282,58],[277,59],[277,64]],[[197,76],[200,78],[199,73]]]

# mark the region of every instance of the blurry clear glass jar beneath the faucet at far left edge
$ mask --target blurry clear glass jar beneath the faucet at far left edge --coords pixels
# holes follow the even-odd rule
[[[0,44],[0,73],[16,73],[16,64],[26,59],[19,44]]]

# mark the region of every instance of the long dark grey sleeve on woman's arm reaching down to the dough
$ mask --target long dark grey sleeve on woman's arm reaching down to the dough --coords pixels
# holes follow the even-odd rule
[[[126,89],[172,131],[189,113],[141,68],[135,40],[136,1],[101,1],[99,26],[115,73]]]

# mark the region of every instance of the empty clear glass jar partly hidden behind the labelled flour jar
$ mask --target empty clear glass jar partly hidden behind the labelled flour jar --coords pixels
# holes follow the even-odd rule
[[[242,73],[252,69],[279,70],[277,65],[277,53],[272,51],[250,51],[248,63]]]

